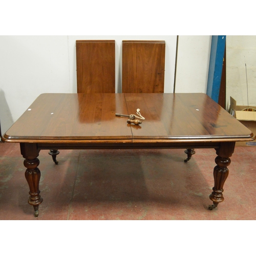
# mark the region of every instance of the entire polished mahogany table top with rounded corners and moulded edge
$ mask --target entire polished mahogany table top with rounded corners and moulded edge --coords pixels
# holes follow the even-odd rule
[[[145,120],[128,124],[115,113]],[[41,94],[3,136],[8,142],[249,141],[254,135],[203,93]]]

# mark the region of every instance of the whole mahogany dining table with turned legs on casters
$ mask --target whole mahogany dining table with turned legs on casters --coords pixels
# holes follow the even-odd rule
[[[139,125],[116,116],[136,115],[137,109],[145,118]],[[5,142],[20,143],[28,203],[36,217],[42,202],[40,150],[50,150],[57,163],[58,150],[66,149],[184,148],[188,161],[195,148],[215,148],[217,165],[208,207],[214,209],[224,200],[223,185],[236,141],[254,139],[247,127],[204,93],[41,94],[2,136]]]

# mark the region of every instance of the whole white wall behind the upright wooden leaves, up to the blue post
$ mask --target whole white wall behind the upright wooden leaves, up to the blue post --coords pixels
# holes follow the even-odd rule
[[[2,134],[41,93],[76,93],[75,40],[116,41],[116,92],[121,92],[122,40],[165,40],[164,92],[174,92],[176,36],[0,36]],[[175,92],[206,92],[211,36],[179,36]]]

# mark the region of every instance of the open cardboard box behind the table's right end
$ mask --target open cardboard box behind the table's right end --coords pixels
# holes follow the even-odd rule
[[[256,135],[256,106],[237,106],[236,100],[230,97],[228,112]],[[256,146],[256,140],[236,142],[236,146]]]

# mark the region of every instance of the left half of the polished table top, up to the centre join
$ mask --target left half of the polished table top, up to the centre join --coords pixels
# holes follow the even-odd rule
[[[132,138],[123,94],[41,94],[6,133],[8,138],[81,140]]]

